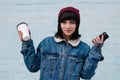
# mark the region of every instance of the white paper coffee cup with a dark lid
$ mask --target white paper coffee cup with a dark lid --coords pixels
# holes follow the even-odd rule
[[[24,41],[27,41],[30,39],[30,34],[28,31],[28,24],[25,22],[22,22],[20,24],[17,25],[17,29],[18,31],[21,31],[23,33],[22,37]]]

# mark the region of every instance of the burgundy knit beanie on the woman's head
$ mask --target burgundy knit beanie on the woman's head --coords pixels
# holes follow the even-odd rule
[[[71,6],[65,7],[65,8],[61,9],[60,12],[59,12],[59,14],[58,14],[58,18],[59,18],[64,12],[66,12],[66,11],[71,11],[71,12],[75,13],[75,14],[78,16],[78,19],[79,19],[79,21],[80,21],[79,10],[76,9],[76,8],[74,8],[74,7],[71,7]]]

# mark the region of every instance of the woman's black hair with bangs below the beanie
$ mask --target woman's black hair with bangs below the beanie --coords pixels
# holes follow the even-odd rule
[[[60,17],[58,17],[58,30],[57,30],[57,33],[55,34],[55,37],[60,37],[62,39],[64,38],[60,23],[64,22],[65,20],[74,20],[76,22],[76,30],[72,34],[70,39],[74,40],[74,39],[79,38],[81,36],[79,34],[80,21],[79,21],[78,16],[75,13],[71,12],[71,11],[66,11]]]

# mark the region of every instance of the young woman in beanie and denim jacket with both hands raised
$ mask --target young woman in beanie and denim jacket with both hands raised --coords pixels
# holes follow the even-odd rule
[[[58,14],[58,30],[53,37],[47,37],[35,52],[33,40],[22,41],[21,53],[30,72],[40,70],[40,80],[91,79],[98,62],[103,60],[101,47],[104,43],[98,36],[93,38],[90,48],[81,41],[79,34],[80,14],[74,7],[65,7]]]

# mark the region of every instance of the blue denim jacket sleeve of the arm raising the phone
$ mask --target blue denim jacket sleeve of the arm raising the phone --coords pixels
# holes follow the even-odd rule
[[[95,75],[98,62],[104,58],[101,54],[101,48],[93,46],[86,57],[85,64],[81,73],[81,78],[91,79]]]

